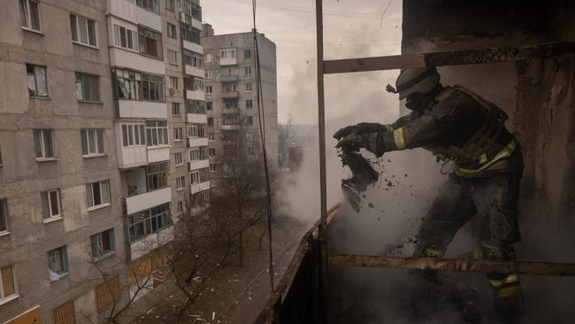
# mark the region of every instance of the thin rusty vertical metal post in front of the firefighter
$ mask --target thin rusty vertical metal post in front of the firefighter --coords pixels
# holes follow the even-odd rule
[[[318,135],[319,135],[319,195],[320,212],[318,239],[321,243],[319,294],[325,313],[327,286],[327,186],[326,186],[326,100],[324,97],[324,23],[322,0],[316,0],[316,33],[318,50]],[[325,322],[326,317],[323,319]]]

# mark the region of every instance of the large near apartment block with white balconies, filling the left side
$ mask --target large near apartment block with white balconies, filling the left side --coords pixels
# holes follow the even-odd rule
[[[0,322],[103,320],[207,197],[201,29],[198,1],[3,4]]]

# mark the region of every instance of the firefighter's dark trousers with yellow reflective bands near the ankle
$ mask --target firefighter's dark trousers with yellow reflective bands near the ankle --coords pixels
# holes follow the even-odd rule
[[[478,217],[483,258],[514,260],[512,243],[521,239],[517,198],[522,174],[522,164],[478,177],[450,174],[419,228],[414,256],[441,258],[457,230]],[[522,307],[517,274],[491,273],[487,278],[495,292],[495,309]]]

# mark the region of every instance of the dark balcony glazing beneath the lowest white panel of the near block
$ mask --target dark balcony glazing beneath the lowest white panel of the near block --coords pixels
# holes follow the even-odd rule
[[[149,210],[128,215],[127,225],[130,243],[172,226],[170,203],[160,204]]]

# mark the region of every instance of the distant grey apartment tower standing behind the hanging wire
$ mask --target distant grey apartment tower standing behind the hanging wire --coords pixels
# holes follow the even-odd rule
[[[261,66],[262,122],[265,148],[271,168],[278,166],[278,88],[275,43],[257,33]],[[225,176],[222,157],[226,147],[245,136],[246,157],[261,154],[257,110],[256,56],[253,33],[214,35],[204,24],[202,44],[205,99],[208,115],[210,178]]]

